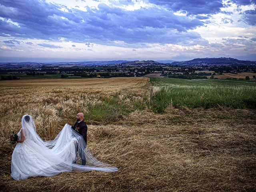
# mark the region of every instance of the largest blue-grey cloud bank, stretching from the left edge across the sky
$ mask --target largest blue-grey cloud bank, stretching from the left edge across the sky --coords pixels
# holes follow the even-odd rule
[[[66,8],[64,12],[60,10],[61,6],[38,0],[30,0],[29,6],[23,0],[2,0],[1,4],[1,9],[5,11],[0,11],[0,17],[5,20],[0,20],[0,34],[10,34],[16,38],[65,38],[67,41],[107,45],[116,41],[129,44],[207,43],[198,33],[188,32],[203,26],[204,22],[157,7],[128,11],[99,4],[98,9],[86,7],[86,12],[74,8]],[[196,13],[192,9],[196,11],[200,7],[197,5],[200,2],[188,4],[195,6],[188,10],[191,13]],[[176,6],[181,5],[178,3]],[[202,9],[206,9],[206,6],[208,10],[216,11],[221,7],[219,1],[206,1]],[[197,13],[203,12],[200,10]]]

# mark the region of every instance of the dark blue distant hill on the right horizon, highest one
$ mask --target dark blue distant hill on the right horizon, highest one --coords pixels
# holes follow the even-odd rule
[[[255,61],[243,61],[234,58],[196,58],[190,61],[184,62],[172,62],[172,65],[183,65],[183,66],[192,66],[192,65],[256,65]]]

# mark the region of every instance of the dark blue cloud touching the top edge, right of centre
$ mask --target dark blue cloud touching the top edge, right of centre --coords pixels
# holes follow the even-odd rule
[[[223,7],[222,0],[149,0],[150,3],[165,6],[173,11],[186,11],[188,14],[214,14]]]

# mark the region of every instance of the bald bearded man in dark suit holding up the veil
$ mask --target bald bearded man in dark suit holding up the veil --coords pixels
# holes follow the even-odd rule
[[[72,129],[74,129],[76,132],[78,132],[83,138],[87,145],[87,126],[84,122],[84,114],[78,113],[76,115],[76,123],[74,126],[71,126]],[[76,152],[78,151],[78,148],[76,148]],[[82,159],[82,165],[86,164],[86,158],[82,157],[82,154],[79,154]],[[76,163],[76,162],[75,162]]]

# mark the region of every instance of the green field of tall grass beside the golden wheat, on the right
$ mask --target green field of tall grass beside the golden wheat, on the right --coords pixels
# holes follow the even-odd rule
[[[169,106],[187,108],[256,108],[256,83],[232,80],[150,78],[151,107],[162,113]]]

